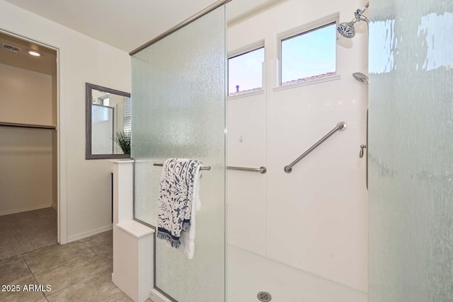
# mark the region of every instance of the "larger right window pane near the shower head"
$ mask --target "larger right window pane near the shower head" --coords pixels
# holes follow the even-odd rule
[[[281,84],[331,76],[336,72],[336,23],[281,40]]]

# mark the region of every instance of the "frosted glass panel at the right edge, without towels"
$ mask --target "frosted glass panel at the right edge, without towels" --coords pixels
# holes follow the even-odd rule
[[[369,11],[369,302],[453,301],[453,1]]]

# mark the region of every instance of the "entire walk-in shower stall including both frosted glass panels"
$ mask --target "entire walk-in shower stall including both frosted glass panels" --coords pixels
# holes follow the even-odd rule
[[[156,226],[167,158],[204,166],[195,257],[154,239],[154,289],[180,302],[452,301],[452,5],[372,2],[368,67],[364,1],[263,1],[232,19],[226,2],[132,52],[134,219]],[[282,85],[282,41],[333,24],[335,72]],[[262,87],[226,97],[227,58],[253,47]]]

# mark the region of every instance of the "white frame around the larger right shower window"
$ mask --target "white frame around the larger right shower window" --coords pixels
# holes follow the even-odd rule
[[[321,79],[307,80],[307,81],[303,81],[300,83],[291,83],[291,84],[282,85],[282,41],[286,40],[290,37],[295,37],[297,35],[309,33],[310,31],[316,30],[318,28],[323,28],[324,26],[331,25],[332,23],[338,24],[339,20],[340,20],[340,14],[333,13],[332,15],[318,19],[311,23],[306,23],[302,26],[293,28],[291,30],[287,30],[287,31],[277,35],[277,66],[278,66],[277,68],[278,68],[278,72],[277,72],[277,83],[275,83],[276,86],[275,86],[274,90],[278,91],[278,90],[286,89],[289,87],[299,87],[299,86],[310,85],[313,83],[320,83],[320,82],[340,79],[340,75],[338,74],[338,51],[337,51],[337,47],[336,47],[336,50],[335,50],[335,72],[336,72],[336,74],[335,75],[326,76],[325,78],[321,78]],[[336,40],[338,40],[338,33],[336,35]]]

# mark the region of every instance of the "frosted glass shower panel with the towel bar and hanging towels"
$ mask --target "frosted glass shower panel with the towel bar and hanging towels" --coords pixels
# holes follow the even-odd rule
[[[135,218],[157,226],[154,163],[196,158],[211,167],[200,180],[195,258],[156,238],[155,287],[179,302],[225,296],[225,26],[221,6],[132,57]]]

